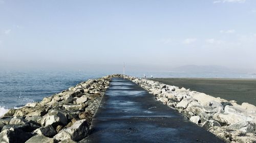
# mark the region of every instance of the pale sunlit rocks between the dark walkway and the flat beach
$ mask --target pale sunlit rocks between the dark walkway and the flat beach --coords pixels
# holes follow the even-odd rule
[[[256,142],[256,107],[252,104],[239,105],[234,100],[227,101],[148,79],[125,78],[226,142]]]

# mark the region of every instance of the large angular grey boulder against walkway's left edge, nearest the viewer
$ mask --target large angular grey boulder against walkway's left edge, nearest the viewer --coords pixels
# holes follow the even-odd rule
[[[89,126],[85,119],[76,121],[71,127],[61,130],[54,136],[56,140],[72,139],[81,140],[89,133]]]

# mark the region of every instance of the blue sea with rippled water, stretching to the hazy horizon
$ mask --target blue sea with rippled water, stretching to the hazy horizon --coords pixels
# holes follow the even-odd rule
[[[115,71],[0,71],[0,117],[10,108],[19,108],[27,103],[42,100],[66,90],[69,87],[86,81],[99,78]],[[122,73],[122,72],[121,72]],[[184,78],[256,78],[254,73],[221,73],[221,72],[127,72],[126,75],[136,77],[184,77]]]

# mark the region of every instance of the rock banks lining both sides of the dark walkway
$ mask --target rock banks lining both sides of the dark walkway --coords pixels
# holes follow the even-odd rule
[[[0,118],[0,142],[79,142],[90,134],[93,117],[112,77],[89,79],[61,93],[10,109]],[[189,121],[226,142],[256,142],[256,107],[204,93],[125,76]]]

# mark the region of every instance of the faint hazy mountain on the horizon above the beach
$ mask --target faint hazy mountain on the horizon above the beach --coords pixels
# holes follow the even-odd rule
[[[217,65],[206,65],[206,66],[198,66],[198,65],[186,65],[180,66],[173,69],[173,71],[177,72],[231,72],[233,70]]]

